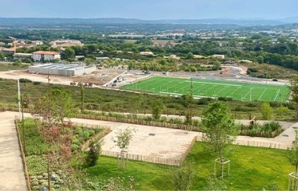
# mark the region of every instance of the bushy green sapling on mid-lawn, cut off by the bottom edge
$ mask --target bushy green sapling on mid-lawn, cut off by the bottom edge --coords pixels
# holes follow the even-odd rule
[[[191,164],[177,168],[172,175],[173,190],[189,190],[193,178]]]

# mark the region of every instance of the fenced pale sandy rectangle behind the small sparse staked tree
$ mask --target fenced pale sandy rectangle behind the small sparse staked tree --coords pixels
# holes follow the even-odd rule
[[[125,128],[134,130],[133,140],[128,148],[130,154],[156,156],[165,159],[181,159],[187,149],[189,149],[193,138],[198,134],[184,130],[122,124],[105,137],[102,149],[120,152],[113,140],[116,137],[116,133]]]

